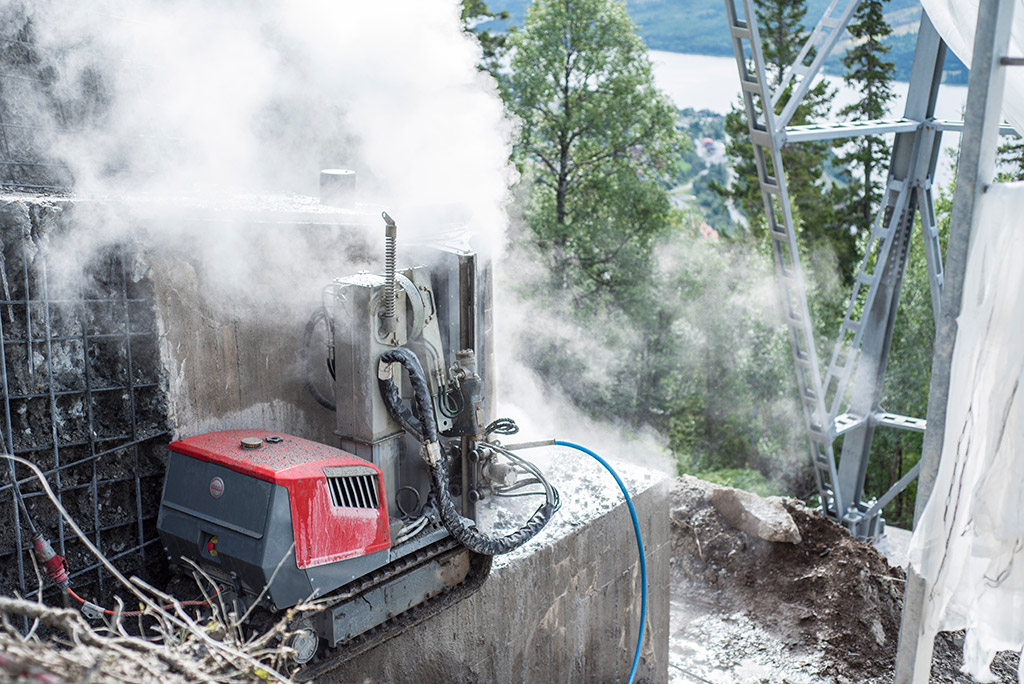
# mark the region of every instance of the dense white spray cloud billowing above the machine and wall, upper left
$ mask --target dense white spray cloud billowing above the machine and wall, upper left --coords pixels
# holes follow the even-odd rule
[[[7,17],[27,20],[56,75],[20,102],[57,131],[49,156],[77,196],[114,201],[87,231],[95,242],[134,232],[141,215],[158,239],[232,257],[220,264],[262,263],[287,245],[271,238],[246,259],[241,216],[318,212],[301,196],[316,195],[322,168],[345,167],[359,201],[387,207],[407,237],[455,217],[481,237],[476,249],[502,244],[509,125],[455,2],[42,0]],[[182,228],[202,212],[217,234]]]

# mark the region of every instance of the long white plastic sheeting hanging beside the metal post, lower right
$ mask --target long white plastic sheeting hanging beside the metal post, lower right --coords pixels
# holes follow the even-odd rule
[[[1024,648],[1024,183],[981,203],[942,460],[910,563],[928,583],[923,633],[967,630],[964,668],[987,682],[997,650]]]

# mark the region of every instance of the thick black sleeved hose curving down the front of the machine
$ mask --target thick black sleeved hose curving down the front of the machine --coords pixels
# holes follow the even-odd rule
[[[413,388],[413,412],[401,401],[398,387],[392,375],[392,365],[400,364],[409,374],[409,382]],[[462,517],[452,501],[449,490],[447,459],[440,453],[437,441],[437,421],[434,418],[433,404],[430,401],[430,390],[420,360],[412,351],[404,347],[389,349],[381,354],[380,367],[377,373],[381,396],[391,416],[423,446],[424,455],[430,466],[432,493],[437,502],[437,511],[441,522],[460,544],[470,551],[487,556],[508,553],[536,536],[551,519],[555,512],[556,501],[549,494],[544,504],[519,529],[504,537],[493,538],[482,535],[473,528],[472,520]]]

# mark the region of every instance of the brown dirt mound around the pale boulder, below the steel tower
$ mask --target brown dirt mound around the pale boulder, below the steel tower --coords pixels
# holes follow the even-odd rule
[[[673,593],[691,606],[741,614],[805,668],[813,664],[821,681],[891,682],[903,570],[793,500],[778,502],[796,522],[800,543],[742,532],[712,505],[715,487],[687,476],[673,487]],[[936,640],[932,681],[972,681],[958,672],[956,644],[956,635]],[[801,659],[806,654],[813,657]],[[1000,654],[993,670],[1000,681],[1014,682],[1016,654]]]

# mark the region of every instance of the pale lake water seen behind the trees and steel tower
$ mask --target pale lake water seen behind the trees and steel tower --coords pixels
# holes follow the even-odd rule
[[[739,103],[739,75],[735,58],[660,50],[651,50],[650,57],[654,65],[655,82],[679,109],[692,106],[694,110],[711,110],[725,114],[731,105]],[[856,100],[857,93],[848,88],[843,79],[837,76],[824,78],[838,90],[833,105],[834,112]],[[905,82],[893,84],[896,97],[893,99],[890,116],[903,115],[906,89]],[[935,118],[959,121],[964,118],[966,102],[967,86],[941,86],[935,105]],[[836,120],[839,120],[838,117]],[[959,134],[945,133],[942,136],[942,144],[943,147],[957,147]],[[950,181],[952,172],[948,156],[943,155],[939,158],[936,176],[938,185],[945,185]]]

